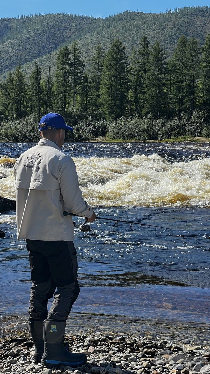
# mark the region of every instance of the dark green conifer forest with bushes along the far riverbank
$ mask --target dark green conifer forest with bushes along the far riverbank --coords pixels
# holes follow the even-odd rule
[[[37,141],[50,111],[74,127],[68,141],[210,137],[210,33],[203,43],[181,35],[172,53],[147,34],[128,53],[116,37],[85,58],[74,40],[56,51],[53,72],[45,58],[47,74],[35,59],[30,73],[19,63],[1,80],[1,141]]]

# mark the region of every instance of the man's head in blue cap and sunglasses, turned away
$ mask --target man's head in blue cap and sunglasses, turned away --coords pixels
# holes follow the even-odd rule
[[[73,131],[72,127],[66,125],[64,117],[58,113],[48,113],[42,117],[39,129],[42,138],[56,141],[60,148],[64,144],[67,131]]]

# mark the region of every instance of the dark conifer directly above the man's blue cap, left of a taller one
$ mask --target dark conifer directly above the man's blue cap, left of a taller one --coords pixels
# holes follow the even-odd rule
[[[62,116],[66,116],[66,106],[70,93],[70,50],[67,46],[60,48],[56,59],[55,72],[55,110]]]

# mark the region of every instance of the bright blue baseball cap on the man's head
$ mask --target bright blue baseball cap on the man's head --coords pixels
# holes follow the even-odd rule
[[[44,123],[45,126],[42,124]],[[40,126],[42,125],[42,126]],[[38,128],[43,130],[50,130],[50,129],[65,129],[73,131],[73,128],[71,126],[67,126],[64,117],[61,116],[61,114],[58,113],[47,113],[42,119],[40,120]]]

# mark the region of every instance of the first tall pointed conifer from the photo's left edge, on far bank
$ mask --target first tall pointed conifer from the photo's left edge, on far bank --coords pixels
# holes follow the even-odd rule
[[[25,77],[19,64],[14,74],[14,118],[21,118],[26,114],[26,86]]]

